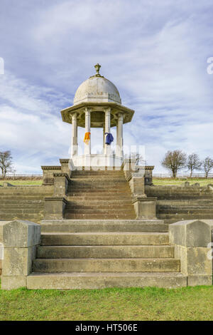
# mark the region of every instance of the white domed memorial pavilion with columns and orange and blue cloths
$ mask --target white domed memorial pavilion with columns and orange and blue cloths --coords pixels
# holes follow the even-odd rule
[[[71,158],[78,166],[121,166],[123,162],[123,123],[131,122],[134,110],[121,104],[118,89],[101,76],[97,63],[96,74],[84,81],[75,93],[73,105],[61,110],[62,120],[72,123]],[[84,155],[78,155],[77,127],[85,128]],[[113,136],[110,128],[116,126],[116,154],[111,153]],[[103,153],[91,154],[90,128],[103,128]],[[83,140],[83,139],[82,139]],[[96,143],[97,145],[97,143]]]

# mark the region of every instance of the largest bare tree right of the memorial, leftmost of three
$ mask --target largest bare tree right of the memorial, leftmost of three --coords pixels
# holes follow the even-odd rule
[[[173,173],[173,178],[176,178],[178,170],[185,168],[187,163],[187,155],[181,150],[168,151],[161,161],[163,168],[166,168]]]

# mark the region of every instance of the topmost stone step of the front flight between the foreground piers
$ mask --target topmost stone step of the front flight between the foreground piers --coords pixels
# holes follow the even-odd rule
[[[42,220],[42,232],[168,232],[163,220]]]

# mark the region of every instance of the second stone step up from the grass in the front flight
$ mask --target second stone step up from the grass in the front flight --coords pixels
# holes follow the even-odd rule
[[[34,259],[33,272],[180,272],[174,258]]]

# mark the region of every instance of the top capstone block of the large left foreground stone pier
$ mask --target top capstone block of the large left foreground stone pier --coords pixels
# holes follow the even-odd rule
[[[3,225],[4,247],[31,247],[40,242],[40,225],[14,220]]]

